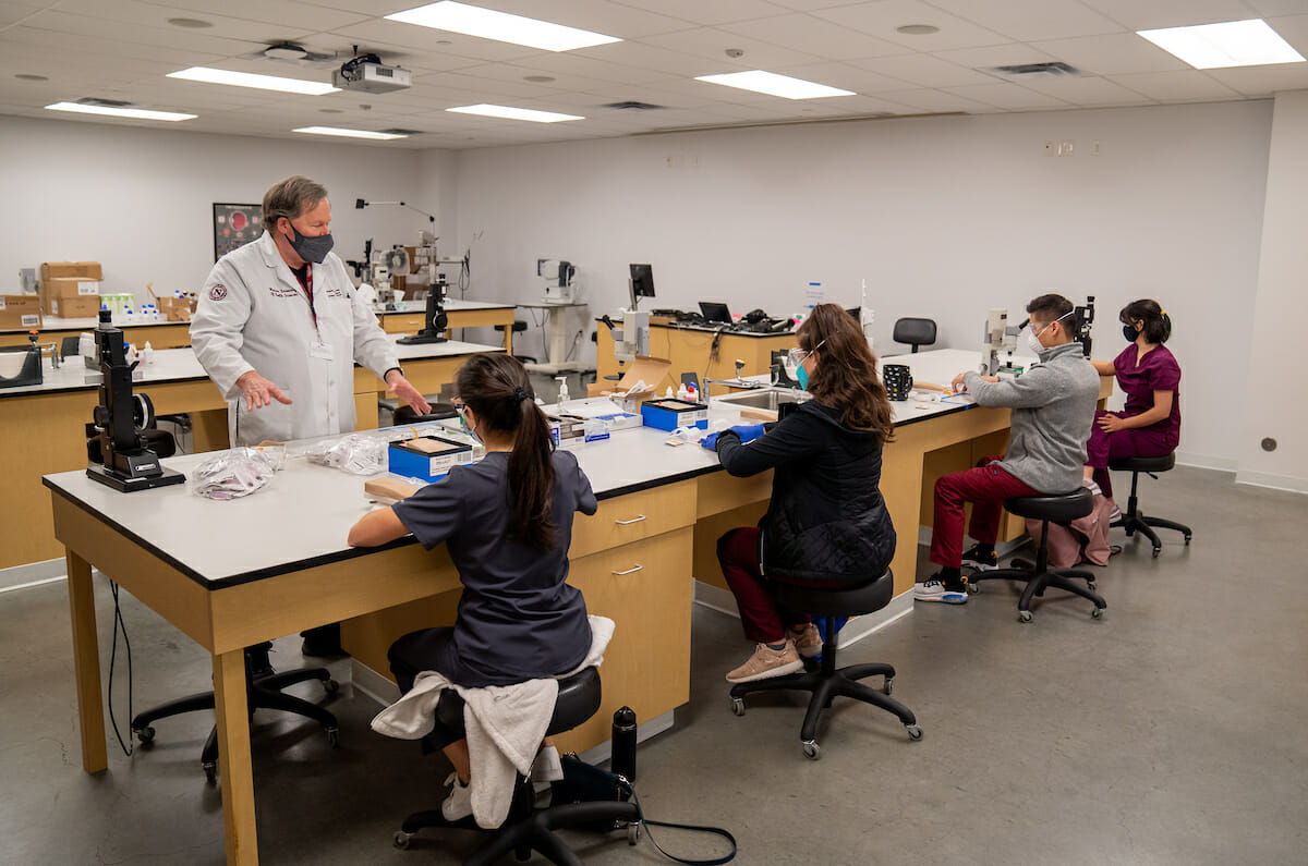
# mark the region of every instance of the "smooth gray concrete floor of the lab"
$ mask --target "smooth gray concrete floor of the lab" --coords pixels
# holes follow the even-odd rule
[[[730,828],[742,863],[1308,862],[1296,543],[1308,498],[1231,477],[1146,479],[1146,510],[1189,522],[1194,543],[1165,538],[1154,560],[1127,542],[1099,580],[1103,620],[1050,595],[1022,625],[1007,585],[986,583],[967,607],[917,610],[844,653],[899,668],[895,696],[926,731],[917,743],[888,714],[842,701],[810,761],[798,696],[759,696],[734,717],[722,674],[749,646],[735,620],[697,608],[691,702],[640,748],[646,814]],[[112,606],[99,593],[107,670]],[[208,687],[203,650],[135,599],[123,616],[137,712]],[[0,862],[222,862],[220,790],[198,764],[212,716],[160,722],[156,744],[132,757],[111,740],[109,772],[86,776],[64,585],[0,594]],[[273,663],[302,665],[297,650],[298,638],[279,641]],[[119,658],[120,725],[124,670]],[[404,814],[439,803],[443,759],[374,735],[377,706],[348,683],[327,705],[341,726],[335,751],[311,722],[255,718],[263,862],[453,863],[471,850],[456,833],[391,848]],[[667,862],[646,842],[574,840],[587,862]]]

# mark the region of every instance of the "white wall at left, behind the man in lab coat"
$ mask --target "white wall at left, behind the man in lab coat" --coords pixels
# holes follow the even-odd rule
[[[292,174],[327,187],[343,259],[362,258],[369,237],[415,243],[426,228],[412,211],[356,211],[354,199],[438,208],[438,178],[411,199],[422,162],[413,150],[4,116],[0,143],[4,292],[18,290],[18,268],[63,260],[101,262],[106,290],[141,298],[146,283],[156,293],[196,289],[213,264],[213,203],[259,203]]]

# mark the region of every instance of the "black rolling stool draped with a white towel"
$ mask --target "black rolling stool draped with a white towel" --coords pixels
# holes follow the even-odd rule
[[[600,684],[596,668],[587,667],[579,674],[559,680],[559,700],[555,704],[555,714],[549,719],[547,735],[561,734],[577,727],[599,710],[599,701]],[[436,714],[446,727],[456,731],[463,730],[463,699],[454,689],[445,689],[441,695]],[[518,859],[528,859],[534,850],[552,863],[582,866],[582,859],[555,835],[556,829],[612,823],[615,829],[619,824],[627,824],[627,840],[632,845],[640,836],[641,818],[636,803],[613,799],[591,803],[561,803],[536,808],[534,801],[535,793],[531,780],[519,776],[513,805],[509,807],[509,818],[498,828],[477,827],[476,819],[471,815],[458,822],[447,822],[437,807],[425,812],[413,812],[405,818],[395,833],[395,846],[408,848],[413,833],[424,827],[453,827],[490,836],[489,841],[468,858],[467,866],[490,866],[509,852],[513,852]]]

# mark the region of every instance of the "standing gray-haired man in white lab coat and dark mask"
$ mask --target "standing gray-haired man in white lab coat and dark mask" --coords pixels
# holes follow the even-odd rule
[[[327,190],[286,178],[263,196],[263,235],[204,281],[191,345],[228,399],[233,445],[352,432],[356,361],[430,411],[331,252],[330,224]]]

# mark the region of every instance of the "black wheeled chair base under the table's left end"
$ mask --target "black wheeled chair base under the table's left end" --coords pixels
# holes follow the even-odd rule
[[[281,689],[296,683],[306,683],[317,679],[322,680],[323,691],[327,695],[335,695],[340,685],[324,667],[305,667],[283,671],[281,674],[273,672],[272,665],[268,662],[269,649],[272,649],[272,644],[264,642],[247,646],[245,650],[246,705],[249,706],[250,717],[254,718],[256,709],[280,709],[286,713],[305,716],[323,726],[323,730],[327,733],[327,744],[335,748],[337,740],[336,717],[317,704],[310,704],[293,695],[283,695]],[[179,697],[175,701],[161,704],[144,713],[137,713],[136,718],[132,719],[132,733],[136,734],[136,739],[140,740],[141,746],[148,746],[154,742],[153,723],[158,719],[201,709],[213,709],[213,692],[200,692]],[[209,784],[213,784],[218,777],[217,725],[209,731],[209,738],[204,740],[204,750],[200,752],[200,767],[204,769],[204,777]]]

